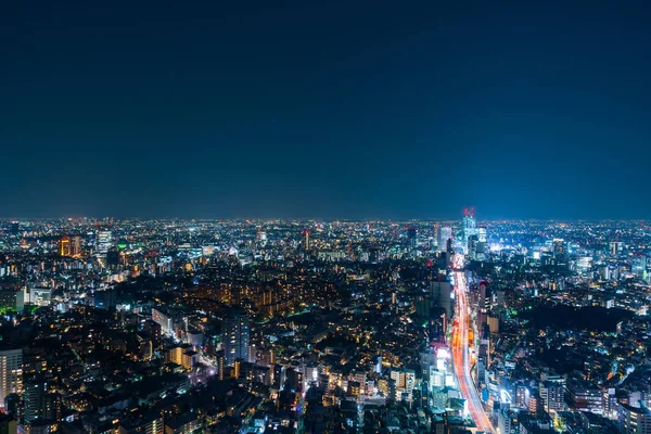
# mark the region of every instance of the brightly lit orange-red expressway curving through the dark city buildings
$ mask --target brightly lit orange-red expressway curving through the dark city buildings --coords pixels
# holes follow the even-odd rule
[[[465,401],[468,403],[468,411],[474,421],[477,431],[493,433],[493,424],[484,411],[484,407],[480,399],[480,394],[470,376],[470,355],[468,353],[468,299],[467,299],[467,282],[463,271],[455,272],[455,298],[457,301],[457,324],[454,328],[452,334],[452,362],[455,373],[459,381],[459,388]]]

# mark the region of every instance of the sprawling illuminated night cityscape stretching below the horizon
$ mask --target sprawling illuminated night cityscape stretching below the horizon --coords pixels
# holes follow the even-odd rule
[[[643,221],[5,220],[0,431],[647,433]]]

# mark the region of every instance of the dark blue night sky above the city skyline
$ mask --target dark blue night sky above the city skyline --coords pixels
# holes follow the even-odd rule
[[[615,1],[3,1],[0,216],[649,218],[650,23]]]

